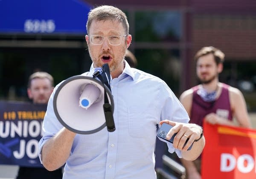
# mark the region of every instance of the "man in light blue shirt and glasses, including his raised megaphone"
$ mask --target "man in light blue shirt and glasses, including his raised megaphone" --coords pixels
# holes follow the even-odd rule
[[[116,7],[99,6],[88,14],[86,27],[93,64],[81,77],[57,85],[49,99],[39,142],[44,167],[56,170],[66,163],[64,179],[156,179],[154,144],[163,122],[173,126],[166,131],[166,139],[177,133],[173,143],[166,142],[169,152],[196,159],[205,144],[202,129],[188,124],[189,116],[163,80],[131,68],[124,60],[132,39],[126,15]],[[95,74],[105,64],[111,74],[110,90],[99,85],[102,80]],[[83,108],[91,91],[95,92],[89,97],[93,102]],[[115,105],[110,110],[114,122],[110,131],[105,117],[111,113],[105,115],[102,108],[106,103]]]

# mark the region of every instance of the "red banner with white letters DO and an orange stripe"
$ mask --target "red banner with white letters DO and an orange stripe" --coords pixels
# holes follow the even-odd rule
[[[202,179],[256,179],[256,130],[204,123]]]

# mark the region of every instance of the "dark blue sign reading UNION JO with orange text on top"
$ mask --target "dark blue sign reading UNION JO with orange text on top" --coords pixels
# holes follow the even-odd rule
[[[0,101],[0,164],[43,167],[38,142],[47,105]]]

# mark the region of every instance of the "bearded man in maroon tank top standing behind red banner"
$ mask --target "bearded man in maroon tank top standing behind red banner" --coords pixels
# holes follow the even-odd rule
[[[195,55],[196,73],[201,84],[180,96],[180,102],[189,114],[190,122],[221,125],[238,125],[250,128],[244,97],[237,88],[219,82],[218,74],[223,70],[224,53],[212,46],[203,47]],[[233,121],[236,118],[236,123]],[[186,168],[187,179],[201,179],[201,159],[181,159]]]

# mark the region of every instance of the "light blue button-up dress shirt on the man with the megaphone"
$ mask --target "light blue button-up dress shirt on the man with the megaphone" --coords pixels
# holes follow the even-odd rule
[[[44,143],[63,128],[52,106],[58,86],[44,118],[40,160]],[[76,134],[63,179],[156,179],[157,125],[164,119],[189,122],[185,109],[163,80],[131,68],[126,61],[123,73],[111,80],[111,91],[116,130],[108,132],[105,127],[94,134]],[[171,143],[168,148],[180,157],[180,151]]]

